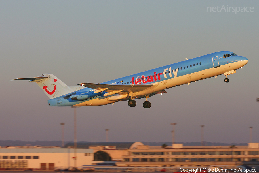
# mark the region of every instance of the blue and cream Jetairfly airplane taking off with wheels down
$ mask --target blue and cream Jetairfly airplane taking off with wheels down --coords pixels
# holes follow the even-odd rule
[[[147,100],[155,94],[167,93],[165,89],[224,74],[236,73],[248,59],[233,52],[221,51],[207,54],[156,69],[125,76],[104,83],[80,83],[67,86],[53,74],[42,74],[29,80],[36,82],[49,97],[49,106],[100,106],[128,101],[130,107],[136,106],[134,99],[145,98],[144,108],[150,108]]]

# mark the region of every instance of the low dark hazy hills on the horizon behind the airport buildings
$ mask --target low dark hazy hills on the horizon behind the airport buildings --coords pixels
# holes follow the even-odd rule
[[[65,141],[64,144],[73,141]],[[87,142],[87,141],[78,141],[78,142]],[[162,146],[167,144],[171,146],[171,142],[142,142],[144,145],[149,146]],[[177,144],[184,144],[184,146],[200,146],[201,142],[176,142]],[[20,140],[0,140],[0,146],[61,146],[61,141],[20,141]],[[204,142],[205,146],[217,146],[217,145],[248,145],[247,143],[219,143],[219,142]]]

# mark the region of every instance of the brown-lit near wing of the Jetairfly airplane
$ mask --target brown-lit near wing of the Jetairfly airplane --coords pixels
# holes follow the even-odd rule
[[[95,93],[99,93],[101,91],[107,92],[105,96],[112,95],[112,94],[127,94],[127,93],[136,93],[139,91],[143,91],[144,89],[147,89],[153,84],[147,84],[147,85],[110,85],[110,84],[93,84],[93,83],[81,83],[78,84],[81,86],[85,86],[88,88],[96,89],[94,91]]]

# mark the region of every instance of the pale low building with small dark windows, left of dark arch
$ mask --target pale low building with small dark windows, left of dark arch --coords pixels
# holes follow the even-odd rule
[[[75,164],[77,166],[91,165],[93,157],[92,149],[76,149],[75,157],[73,148],[7,147],[0,148],[0,169],[67,169],[74,167]]]

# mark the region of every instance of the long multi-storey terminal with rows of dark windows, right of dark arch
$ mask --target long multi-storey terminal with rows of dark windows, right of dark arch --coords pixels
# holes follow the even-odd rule
[[[248,146],[138,146],[130,149],[117,166],[207,167],[258,165],[258,143]]]

